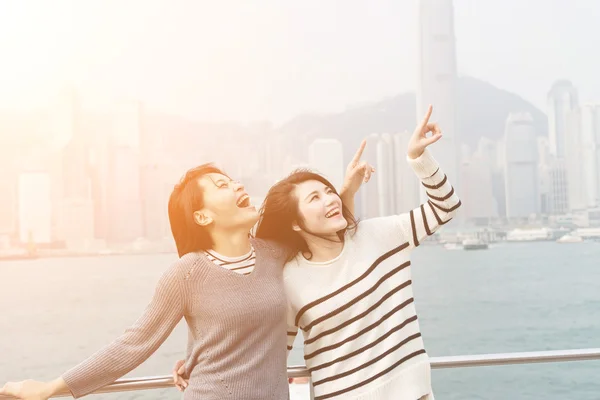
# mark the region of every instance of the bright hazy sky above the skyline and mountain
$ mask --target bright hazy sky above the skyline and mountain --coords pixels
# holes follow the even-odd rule
[[[282,122],[415,90],[418,0],[0,0],[0,108],[72,83],[194,119]],[[600,1],[455,0],[458,70],[600,102]]]

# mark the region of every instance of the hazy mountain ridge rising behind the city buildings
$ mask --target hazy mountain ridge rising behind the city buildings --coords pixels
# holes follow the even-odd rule
[[[457,137],[460,144],[475,148],[481,137],[498,140],[504,135],[511,112],[529,112],[539,135],[546,135],[546,115],[516,94],[487,82],[461,77],[457,85]],[[435,108],[435,104],[434,104]],[[435,115],[435,112],[434,112]],[[371,133],[412,131],[416,124],[416,98],[404,93],[337,114],[302,115],[282,125],[287,150],[305,160],[308,145],[317,137],[335,138],[344,145],[344,156],[354,153],[360,140]],[[442,130],[444,127],[441,127]]]

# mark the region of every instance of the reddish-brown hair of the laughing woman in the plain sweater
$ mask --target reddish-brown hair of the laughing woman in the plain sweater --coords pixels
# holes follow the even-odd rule
[[[169,223],[179,257],[213,246],[210,233],[194,220],[194,212],[204,207],[204,195],[198,179],[211,173],[227,176],[212,164],[202,164],[188,170],[169,197]]]

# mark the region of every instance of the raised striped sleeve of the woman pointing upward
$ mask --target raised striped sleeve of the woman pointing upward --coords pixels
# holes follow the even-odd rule
[[[407,213],[379,220],[383,223],[380,227],[384,228],[384,231],[393,232],[392,235],[382,238],[383,240],[393,240],[394,244],[397,244],[400,236],[410,248],[415,248],[427,236],[450,222],[462,203],[429,150],[426,149],[416,159],[407,157],[407,161],[425,187],[427,202]]]

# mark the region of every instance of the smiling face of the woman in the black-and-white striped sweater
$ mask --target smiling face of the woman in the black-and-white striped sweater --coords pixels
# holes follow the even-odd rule
[[[342,214],[342,200],[327,185],[317,180],[297,184],[293,195],[298,200],[302,229],[308,233],[336,237],[348,226]]]

